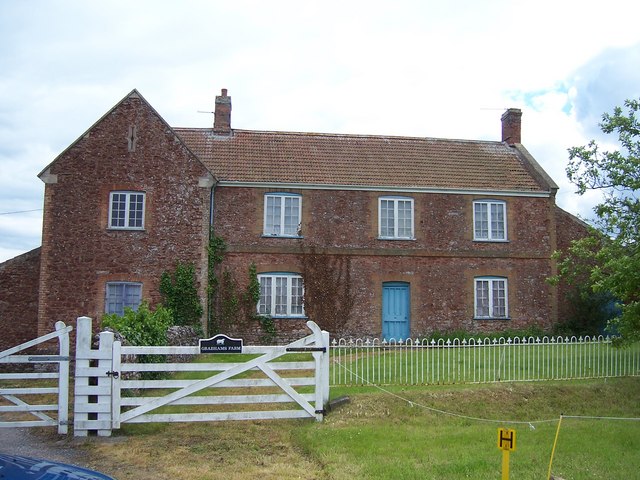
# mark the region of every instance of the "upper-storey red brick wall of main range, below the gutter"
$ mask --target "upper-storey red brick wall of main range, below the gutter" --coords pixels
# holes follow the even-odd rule
[[[287,252],[295,239],[262,238],[264,194],[261,188],[219,187],[215,193],[215,226],[231,247]],[[282,191],[282,190],[278,190]],[[302,194],[304,245],[358,249],[359,253],[546,257],[554,240],[548,198],[499,197],[507,204],[508,242],[473,241],[474,200],[483,196],[406,194],[415,204],[415,240],[378,240],[380,192],[287,190]],[[362,249],[366,249],[363,252]]]

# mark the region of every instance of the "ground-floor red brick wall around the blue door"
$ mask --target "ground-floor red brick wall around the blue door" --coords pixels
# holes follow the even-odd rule
[[[258,272],[300,272],[297,255],[228,254],[224,265],[238,279],[240,287],[248,282],[248,267],[255,262]],[[382,283],[401,281],[411,289],[411,335],[426,335],[433,331],[465,330],[492,332],[523,329],[537,325],[548,329],[551,316],[551,290],[545,279],[551,274],[549,261],[544,259],[445,258],[413,256],[353,256],[351,263],[352,291],[355,308],[332,334],[380,337],[382,330]],[[476,320],[474,308],[474,277],[498,275],[508,278],[509,320]],[[312,299],[307,299],[312,301]],[[323,319],[311,318],[321,327]],[[295,338],[306,331],[305,320],[280,319],[276,326],[281,338]],[[234,330],[244,337],[259,334]],[[333,330],[333,329],[331,329]],[[293,335],[291,332],[295,332]]]

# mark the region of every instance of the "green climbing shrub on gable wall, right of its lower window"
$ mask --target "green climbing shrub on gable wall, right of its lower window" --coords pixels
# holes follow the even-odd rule
[[[160,278],[162,303],[171,310],[174,325],[201,328],[202,304],[196,288],[196,270],[192,263],[178,262],[173,274],[164,272]]]

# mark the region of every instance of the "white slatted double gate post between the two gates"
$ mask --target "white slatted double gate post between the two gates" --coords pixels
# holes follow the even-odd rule
[[[111,371],[113,333],[100,333],[98,350],[91,348],[91,318],[79,317],[76,328],[76,383],[74,400],[74,435],[86,437],[89,431],[98,436],[111,435]]]

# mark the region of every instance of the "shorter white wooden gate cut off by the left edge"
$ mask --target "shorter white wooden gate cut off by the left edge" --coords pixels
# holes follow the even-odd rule
[[[72,329],[73,327],[66,326],[64,322],[57,322],[55,332],[0,352],[0,364],[57,364],[56,372],[0,373],[0,428],[57,426],[59,434],[67,433],[69,332]],[[18,355],[20,352],[55,338],[58,339],[59,344],[58,355]],[[55,385],[52,386],[52,383]],[[52,396],[57,396],[57,403],[50,403]],[[20,397],[26,397],[27,400]],[[57,412],[56,417],[45,413],[52,411]],[[29,417],[35,417],[35,419]],[[25,418],[29,419],[25,420]]]

